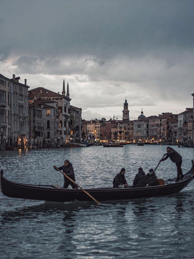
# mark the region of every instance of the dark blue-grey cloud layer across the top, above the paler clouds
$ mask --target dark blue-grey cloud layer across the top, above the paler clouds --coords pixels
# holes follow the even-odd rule
[[[166,46],[193,48],[194,1],[40,0],[1,5],[6,32],[2,46],[14,41],[16,53],[110,58],[163,51]]]

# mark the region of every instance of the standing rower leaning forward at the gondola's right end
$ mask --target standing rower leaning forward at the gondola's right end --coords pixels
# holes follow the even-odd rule
[[[182,179],[183,173],[182,173],[182,156],[176,152],[173,148],[171,147],[167,147],[166,148],[167,153],[165,153],[164,155],[166,155],[164,158],[162,158],[160,161],[165,161],[167,158],[170,158],[170,160],[175,163],[176,167],[177,167],[177,178],[175,182],[179,182],[180,179]]]

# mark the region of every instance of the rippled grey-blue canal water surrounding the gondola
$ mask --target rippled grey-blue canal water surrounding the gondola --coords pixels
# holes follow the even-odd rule
[[[0,151],[4,176],[15,182],[63,185],[53,169],[65,159],[82,188],[112,186],[125,167],[132,184],[139,167],[155,169],[165,145]],[[189,171],[194,148],[173,146]],[[158,178],[176,177],[167,159]],[[0,192],[1,258],[193,258],[194,181],[176,195],[125,201],[48,203]]]

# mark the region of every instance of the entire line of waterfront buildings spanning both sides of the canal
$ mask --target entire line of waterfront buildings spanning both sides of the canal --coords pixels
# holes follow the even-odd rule
[[[27,80],[0,74],[0,148],[59,147],[86,141],[136,143],[193,143],[193,108],[179,114],[162,113],[130,120],[127,100],[122,120],[82,120],[82,109],[72,106],[69,84],[59,94],[37,87],[29,90]],[[194,94],[192,94],[194,98]]]

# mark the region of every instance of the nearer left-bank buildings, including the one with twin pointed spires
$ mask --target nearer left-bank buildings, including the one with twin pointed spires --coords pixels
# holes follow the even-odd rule
[[[62,94],[43,87],[29,90],[0,74],[0,145],[4,147],[59,147],[82,138],[82,109],[70,105],[69,84]]]

